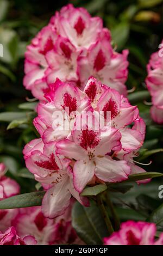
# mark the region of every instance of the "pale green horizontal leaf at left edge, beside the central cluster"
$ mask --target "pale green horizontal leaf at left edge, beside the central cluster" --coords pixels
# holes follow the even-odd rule
[[[11,122],[13,120],[27,118],[25,112],[2,112],[0,113],[0,121]]]

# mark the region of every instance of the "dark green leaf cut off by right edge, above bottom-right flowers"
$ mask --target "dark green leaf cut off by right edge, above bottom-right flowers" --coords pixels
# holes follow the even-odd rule
[[[147,221],[154,222],[158,230],[163,230],[163,204],[152,212]]]

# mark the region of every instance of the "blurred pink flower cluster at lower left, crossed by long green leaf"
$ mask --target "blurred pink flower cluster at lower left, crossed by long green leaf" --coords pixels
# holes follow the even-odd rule
[[[3,186],[4,198],[18,194],[19,185],[4,176],[7,171],[4,163],[0,163],[0,167],[0,184]],[[74,201],[71,200],[65,214],[55,220],[43,216],[40,206],[0,210],[0,245],[82,244],[71,225],[73,204]]]

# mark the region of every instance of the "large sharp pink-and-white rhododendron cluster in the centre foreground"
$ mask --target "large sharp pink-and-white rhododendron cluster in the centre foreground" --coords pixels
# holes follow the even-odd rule
[[[28,143],[23,154],[46,190],[46,217],[63,214],[71,196],[88,205],[80,196],[87,184],[120,182],[145,172],[133,160],[145,138],[145,123],[126,97],[94,77],[84,92],[57,80],[45,97],[48,102],[39,103],[34,119],[41,138]]]

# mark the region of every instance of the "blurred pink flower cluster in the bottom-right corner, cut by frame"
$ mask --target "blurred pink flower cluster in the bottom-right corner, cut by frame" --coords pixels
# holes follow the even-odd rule
[[[127,221],[119,231],[104,238],[104,245],[163,245],[163,233],[158,240],[155,235],[154,223]]]

